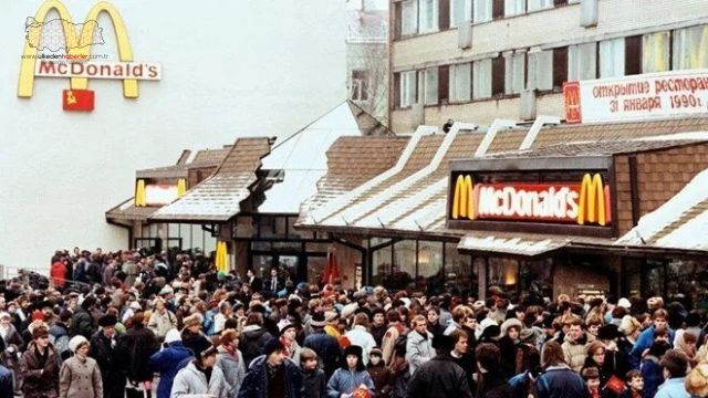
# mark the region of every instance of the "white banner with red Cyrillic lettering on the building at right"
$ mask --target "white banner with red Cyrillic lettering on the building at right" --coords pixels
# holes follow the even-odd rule
[[[708,70],[568,82],[568,123],[708,114]]]

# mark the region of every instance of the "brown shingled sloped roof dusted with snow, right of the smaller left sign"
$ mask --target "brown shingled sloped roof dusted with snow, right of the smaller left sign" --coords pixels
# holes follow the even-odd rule
[[[269,138],[238,138],[211,177],[157,210],[150,220],[228,221],[250,196],[261,158],[269,151]]]

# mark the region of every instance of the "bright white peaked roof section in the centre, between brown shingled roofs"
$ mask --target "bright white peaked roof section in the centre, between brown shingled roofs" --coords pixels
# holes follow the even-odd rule
[[[282,170],[282,181],[266,191],[260,213],[299,213],[300,205],[316,193],[317,181],[327,172],[327,150],[340,138],[391,132],[360,107],[343,102],[300,132],[275,143],[263,158],[263,170]]]

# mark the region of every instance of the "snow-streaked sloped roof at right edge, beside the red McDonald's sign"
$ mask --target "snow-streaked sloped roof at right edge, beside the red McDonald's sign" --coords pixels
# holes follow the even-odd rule
[[[666,203],[639,219],[615,245],[708,251],[708,169]]]

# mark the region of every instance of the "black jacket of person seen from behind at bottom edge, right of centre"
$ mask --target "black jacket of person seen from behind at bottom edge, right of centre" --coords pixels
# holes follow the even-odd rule
[[[447,354],[420,365],[408,383],[408,398],[427,397],[472,397],[465,370]]]

